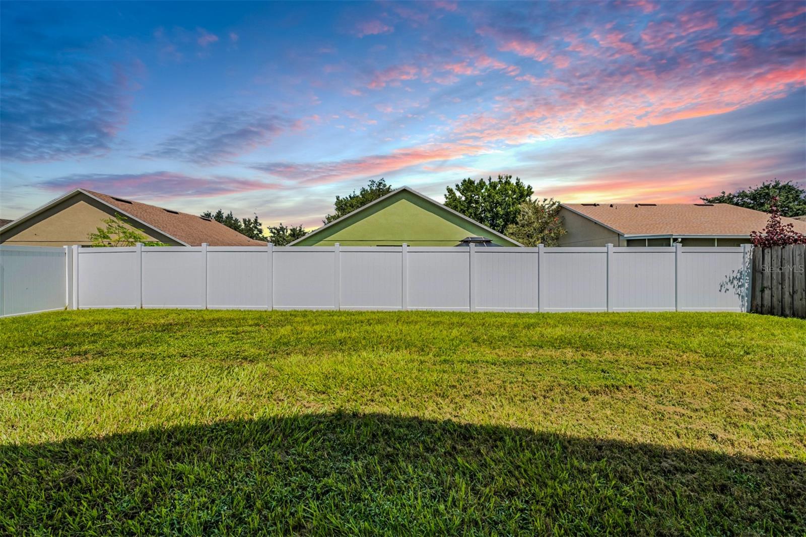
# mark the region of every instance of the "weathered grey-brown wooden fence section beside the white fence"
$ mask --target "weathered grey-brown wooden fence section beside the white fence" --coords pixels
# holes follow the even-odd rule
[[[806,244],[754,248],[753,313],[806,318]]]

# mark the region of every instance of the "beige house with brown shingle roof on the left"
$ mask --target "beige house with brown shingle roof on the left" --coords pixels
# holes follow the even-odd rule
[[[146,240],[171,246],[264,246],[213,219],[195,214],[75,189],[0,227],[0,244],[18,246],[89,245],[89,233],[104,219],[120,214],[146,235]]]

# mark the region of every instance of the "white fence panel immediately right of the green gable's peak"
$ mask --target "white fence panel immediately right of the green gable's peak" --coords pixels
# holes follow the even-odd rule
[[[470,310],[469,260],[468,248],[409,248],[409,309]]]

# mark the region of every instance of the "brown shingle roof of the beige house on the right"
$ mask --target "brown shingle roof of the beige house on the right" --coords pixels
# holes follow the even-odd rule
[[[596,206],[582,203],[563,203],[567,209],[596,220],[621,235],[731,235],[746,236],[750,231],[762,231],[769,214],[760,210],[745,209],[715,203],[601,203]],[[781,219],[791,223],[796,231],[806,233],[806,222]]]

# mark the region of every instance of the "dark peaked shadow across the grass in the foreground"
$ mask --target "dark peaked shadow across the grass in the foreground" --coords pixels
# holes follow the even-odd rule
[[[2,531],[786,534],[806,465],[386,414],[0,447]]]

